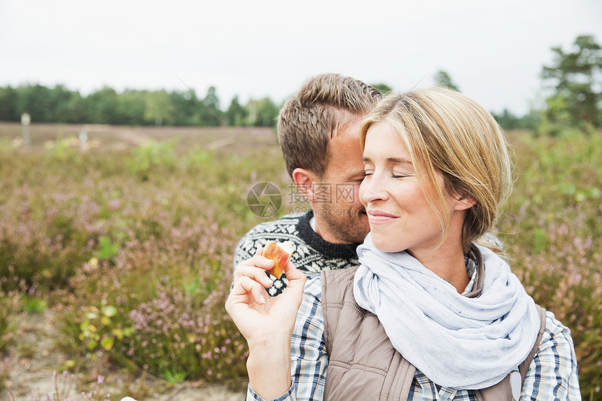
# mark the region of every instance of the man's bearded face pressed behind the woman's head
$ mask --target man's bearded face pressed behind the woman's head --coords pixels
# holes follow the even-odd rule
[[[363,242],[370,225],[358,190],[364,166],[360,148],[362,118],[353,118],[330,139],[325,174],[314,183],[316,232],[333,244]]]

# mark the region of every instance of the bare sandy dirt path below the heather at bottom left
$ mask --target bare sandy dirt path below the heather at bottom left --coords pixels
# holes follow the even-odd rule
[[[21,314],[18,320],[16,341],[9,356],[6,390],[0,393],[0,400],[8,400],[9,392],[15,401],[44,400],[48,393],[55,393],[53,370],[61,370],[61,366],[68,365],[69,356],[56,347],[57,323],[52,311],[46,311],[45,314]],[[139,401],[244,400],[243,383],[227,386],[186,381],[169,386],[165,381],[155,377],[132,378],[115,367],[97,363],[92,364],[87,372],[76,375],[69,393],[66,393],[66,388],[69,386],[62,391],[64,379],[62,374],[59,374],[57,383],[59,393],[62,393],[59,401],[63,401],[66,397],[72,401],[87,400],[82,392],[87,393],[97,388],[99,374],[105,377],[100,390],[102,393],[110,393],[111,400],[120,400],[125,396],[132,396]],[[232,391],[232,388],[243,391]]]

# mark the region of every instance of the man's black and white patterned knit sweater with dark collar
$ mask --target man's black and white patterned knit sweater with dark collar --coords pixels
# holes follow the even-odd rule
[[[268,240],[293,242],[295,251],[290,262],[307,276],[320,274],[321,270],[357,266],[356,249],[359,244],[331,244],[324,241],[309,225],[313,216],[314,211],[310,209],[303,214],[289,214],[278,220],[256,225],[239,241],[234,255],[234,267],[252,258],[257,248],[264,246]],[[287,284],[288,280],[283,275],[279,280],[274,279],[274,285],[267,288],[267,292],[274,297]]]

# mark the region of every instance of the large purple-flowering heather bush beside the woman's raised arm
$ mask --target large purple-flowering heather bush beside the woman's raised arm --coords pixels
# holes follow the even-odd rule
[[[164,377],[214,381],[245,372],[246,342],[225,313],[232,234],[207,219],[159,220],[114,260],[92,258],[70,281],[64,327],[90,357]],[[82,306],[84,306],[82,308]]]

